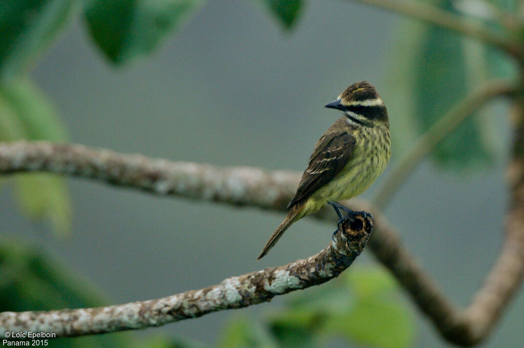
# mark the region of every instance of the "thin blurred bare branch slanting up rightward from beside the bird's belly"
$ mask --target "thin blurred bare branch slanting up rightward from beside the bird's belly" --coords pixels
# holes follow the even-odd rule
[[[467,118],[497,96],[514,94],[517,85],[508,81],[490,81],[468,94],[459,104],[438,119],[403,156],[395,169],[377,189],[372,202],[377,209],[386,207],[395,192],[405,182],[420,161],[427,156],[448,134],[452,133]]]

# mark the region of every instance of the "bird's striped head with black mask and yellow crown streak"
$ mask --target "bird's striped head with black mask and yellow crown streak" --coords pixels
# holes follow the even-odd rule
[[[336,100],[325,107],[341,110],[348,120],[373,127],[388,123],[386,106],[374,86],[366,81],[353,83]]]

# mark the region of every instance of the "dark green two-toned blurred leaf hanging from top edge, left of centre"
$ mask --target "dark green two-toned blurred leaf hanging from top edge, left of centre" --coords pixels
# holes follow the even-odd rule
[[[114,63],[153,51],[170,30],[200,9],[201,0],[94,0],[85,18],[96,44]]]

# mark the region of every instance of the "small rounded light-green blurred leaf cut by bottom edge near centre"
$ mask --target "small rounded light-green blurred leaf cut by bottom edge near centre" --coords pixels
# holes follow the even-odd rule
[[[222,330],[220,348],[277,347],[270,335],[256,320],[237,317]]]

